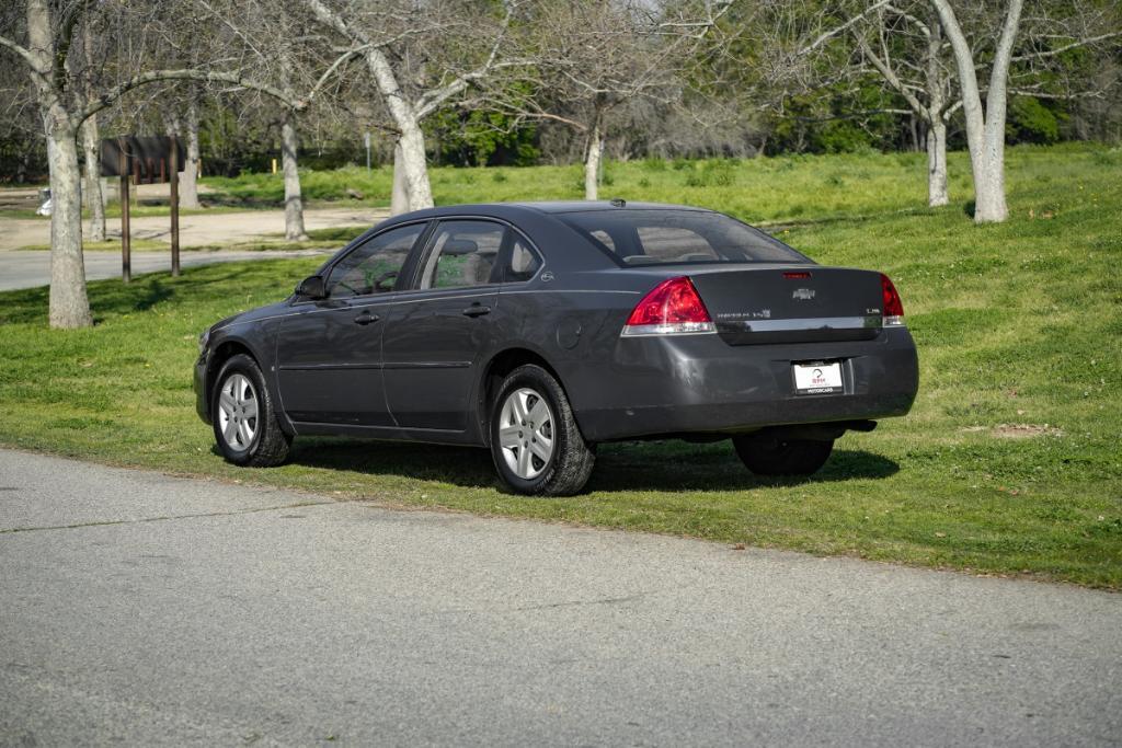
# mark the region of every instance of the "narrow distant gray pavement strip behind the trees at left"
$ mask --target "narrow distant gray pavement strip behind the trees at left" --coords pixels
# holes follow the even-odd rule
[[[322,255],[327,257],[332,250],[301,249],[294,251],[230,251],[217,252],[190,251],[180,255],[181,267],[190,268],[196,265],[212,262],[234,262],[241,260],[265,260],[275,257],[306,257]],[[85,252],[86,280],[121,277],[121,256],[116,252]],[[166,252],[134,252],[131,258],[132,277],[145,273],[166,273],[172,269],[171,250]],[[0,290],[15,288],[35,288],[50,283],[50,252],[47,250],[26,249],[16,251],[0,250]]]

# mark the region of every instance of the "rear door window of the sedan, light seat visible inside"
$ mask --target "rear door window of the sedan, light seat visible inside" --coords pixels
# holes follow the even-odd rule
[[[422,288],[466,288],[491,283],[506,227],[490,221],[445,221],[436,227]]]

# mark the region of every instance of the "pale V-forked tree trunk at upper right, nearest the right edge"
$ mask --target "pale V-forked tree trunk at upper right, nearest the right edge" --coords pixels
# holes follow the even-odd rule
[[[950,40],[963,91],[963,116],[966,119],[966,144],[971,151],[974,176],[974,221],[996,223],[1009,216],[1005,204],[1005,109],[1009,65],[1013,39],[1021,20],[1022,0],[1010,0],[1001,37],[990,73],[986,107],[982,109],[974,54],[966,41],[955,11],[947,0],[931,0],[939,21]]]

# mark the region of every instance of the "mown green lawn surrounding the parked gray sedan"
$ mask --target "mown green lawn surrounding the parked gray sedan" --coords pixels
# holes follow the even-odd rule
[[[297,440],[285,467],[227,465],[193,410],[199,332],[284,297],[315,258],[92,283],[91,330],[48,330],[46,289],[0,294],[0,443],[390,505],[1122,589],[1122,153],[1018,148],[1009,163],[1011,220],[983,228],[964,214],[960,154],[957,202],[940,210],[921,207],[912,155],[609,168],[618,190],[607,194],[790,222],[776,232],[817,260],[895,280],[920,349],[916,407],[840,440],[809,480],[753,478],[727,443],[604,445],[589,491],[568,499],[498,491],[488,454],[469,449]],[[732,183],[684,185],[683,172],[706,168]],[[442,183],[438,170],[440,202],[577,191],[573,167],[447,172],[476,181]]]

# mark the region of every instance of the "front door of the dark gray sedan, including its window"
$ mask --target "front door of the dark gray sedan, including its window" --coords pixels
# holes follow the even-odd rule
[[[384,318],[426,225],[375,234],[328,270],[327,298],[294,304],[277,338],[280,401],[292,421],[393,425],[381,373]]]

